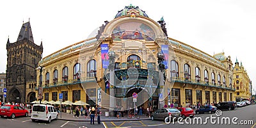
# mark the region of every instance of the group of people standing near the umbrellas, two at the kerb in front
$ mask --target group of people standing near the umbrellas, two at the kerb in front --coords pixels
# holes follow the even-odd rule
[[[84,118],[88,118],[88,116],[90,116],[90,124],[94,124],[94,118],[95,118],[95,115],[97,115],[97,122],[98,124],[100,124],[100,115],[101,115],[101,111],[99,108],[94,108],[94,107],[90,107],[89,109],[87,108],[84,108],[81,106],[76,106],[76,113],[74,115],[74,117],[77,116],[77,118],[79,118],[79,115],[81,114],[81,116],[83,116],[83,110],[85,111],[84,113]]]

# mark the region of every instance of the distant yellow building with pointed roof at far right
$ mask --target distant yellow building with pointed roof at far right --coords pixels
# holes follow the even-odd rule
[[[248,76],[246,70],[243,67],[243,64],[239,65],[236,60],[234,67],[234,87],[236,88],[235,97],[237,101],[243,99],[252,98],[252,81]]]

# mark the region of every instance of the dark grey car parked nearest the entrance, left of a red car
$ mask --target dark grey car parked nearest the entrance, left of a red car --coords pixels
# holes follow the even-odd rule
[[[159,108],[151,115],[151,120],[164,120],[166,117],[172,116],[171,121],[174,117],[177,119],[180,117],[180,111],[177,108]]]

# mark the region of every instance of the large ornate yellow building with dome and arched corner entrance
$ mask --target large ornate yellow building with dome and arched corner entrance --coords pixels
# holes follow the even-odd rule
[[[63,100],[111,110],[235,100],[230,56],[170,38],[164,19],[157,22],[138,6],[125,6],[97,35],[43,58],[37,71],[43,100],[63,93]]]

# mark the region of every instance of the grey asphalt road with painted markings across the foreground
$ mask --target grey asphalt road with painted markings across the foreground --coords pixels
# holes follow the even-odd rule
[[[165,124],[162,120],[145,120],[145,121],[125,121],[125,122],[102,122],[102,124],[98,125],[90,125],[90,122],[72,122],[65,120],[52,120],[51,124],[47,124],[46,122],[32,122],[30,117],[18,117],[15,119],[10,118],[0,118],[0,125],[3,128],[45,128],[45,127],[63,127],[63,128],[82,128],[82,127],[97,127],[97,128],[107,128],[107,127],[186,127],[186,128],[198,128],[198,127],[232,127],[232,128],[256,128],[256,105],[245,106],[243,108],[237,108],[232,111],[222,111],[221,116],[216,116],[213,114],[200,114],[195,115],[194,118],[191,119],[191,124],[188,124],[190,121],[182,120],[179,122],[175,122],[174,124]],[[200,119],[202,120],[202,124],[200,123]],[[211,120],[212,118],[212,120]],[[230,119],[230,123],[228,122],[228,118]],[[236,119],[237,118],[237,119]],[[207,121],[205,121],[207,120]],[[222,120],[222,123],[221,123]],[[227,122],[226,122],[227,120]],[[233,122],[232,122],[233,120]],[[97,122],[96,122],[97,123]],[[182,124],[183,123],[183,124]],[[194,123],[194,124],[193,124]],[[237,124],[234,124],[237,123]],[[242,123],[247,123],[247,125],[242,125]]]

